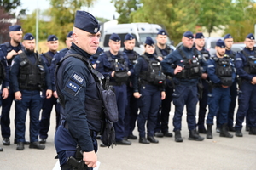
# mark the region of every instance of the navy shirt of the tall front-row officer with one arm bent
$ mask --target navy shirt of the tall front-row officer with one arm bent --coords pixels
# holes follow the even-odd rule
[[[186,59],[193,59],[193,57],[195,57],[194,54],[194,48],[186,48],[184,46],[181,47],[181,49],[183,50],[183,54],[186,56]],[[199,52],[198,52],[199,53]],[[200,54],[200,53],[199,53]],[[200,59],[200,63],[201,66],[204,68],[204,70],[206,70],[207,67],[207,62],[203,59]],[[174,70],[175,67],[172,67],[172,65],[179,65],[181,67],[183,67],[184,65],[184,60],[182,55],[180,54],[180,52],[178,50],[175,50],[174,52],[172,52],[171,54],[167,55],[167,57],[161,61],[161,65],[163,68],[163,71],[166,74],[171,74],[172,76],[174,76]],[[177,77],[173,78],[173,81],[176,82],[177,84],[181,83],[182,85],[196,85],[198,82],[198,78],[194,78],[194,79],[180,79]]]

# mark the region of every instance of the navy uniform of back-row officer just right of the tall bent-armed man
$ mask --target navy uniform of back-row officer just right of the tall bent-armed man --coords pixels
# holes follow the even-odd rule
[[[202,48],[200,51],[202,54],[202,57],[206,60],[209,60],[211,58],[211,55],[209,51],[207,51],[205,48]],[[206,70],[207,73],[207,70]],[[199,99],[199,111],[198,111],[198,121],[197,121],[197,127],[199,133],[201,131],[206,130],[205,128],[205,117],[207,113],[207,100],[208,100],[208,82],[206,79],[201,79],[202,85],[203,85],[203,92],[201,99]]]

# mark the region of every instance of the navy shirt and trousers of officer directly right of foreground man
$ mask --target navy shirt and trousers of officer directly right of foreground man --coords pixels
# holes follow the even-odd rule
[[[110,55],[113,60],[120,58],[120,52],[117,55],[113,55],[111,53]],[[131,71],[131,74],[133,74],[133,68],[129,62],[127,55],[123,53],[122,56],[125,59],[126,63],[126,68],[123,69],[125,69],[126,71]],[[116,142],[123,141],[125,137],[125,108],[127,103],[126,82],[119,84],[115,81],[114,77],[111,77],[111,73],[112,71],[114,71],[113,61],[108,60],[107,54],[101,54],[96,61],[96,64],[97,71],[101,72],[104,77],[110,77],[109,84],[113,86],[119,111],[119,121],[114,123],[115,139]]]

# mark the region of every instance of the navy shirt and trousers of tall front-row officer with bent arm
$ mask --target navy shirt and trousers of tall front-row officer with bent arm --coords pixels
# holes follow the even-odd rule
[[[194,48],[182,47],[184,55],[187,59],[195,59],[195,50]],[[201,65],[203,66],[203,71],[206,70],[206,63],[200,59]],[[172,94],[173,105],[175,105],[175,113],[173,117],[173,126],[174,132],[181,130],[181,121],[183,115],[183,107],[186,105],[187,108],[187,122],[189,131],[195,130],[195,109],[198,101],[197,94],[197,83],[199,78],[178,78],[177,75],[174,75],[174,69],[171,65],[184,65],[184,59],[178,50],[169,54],[166,59],[161,62],[163,66],[163,71],[166,74],[170,74],[173,77],[173,82],[175,83],[175,89]]]

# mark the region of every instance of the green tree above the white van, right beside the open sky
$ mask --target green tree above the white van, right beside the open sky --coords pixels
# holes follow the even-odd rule
[[[137,11],[140,0],[112,0],[111,3],[114,3],[114,7],[119,13],[119,24],[122,24],[131,22],[130,14],[133,11]]]

